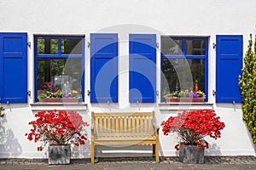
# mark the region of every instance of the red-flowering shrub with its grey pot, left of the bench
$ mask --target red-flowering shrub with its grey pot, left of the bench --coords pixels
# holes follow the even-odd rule
[[[70,163],[70,144],[85,144],[89,124],[77,111],[38,111],[35,117],[28,123],[32,129],[25,134],[27,139],[42,142],[38,151],[48,144],[49,164]]]

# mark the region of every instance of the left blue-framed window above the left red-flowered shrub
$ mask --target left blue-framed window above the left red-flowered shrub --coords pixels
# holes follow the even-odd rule
[[[36,100],[84,99],[84,37],[36,36]]]

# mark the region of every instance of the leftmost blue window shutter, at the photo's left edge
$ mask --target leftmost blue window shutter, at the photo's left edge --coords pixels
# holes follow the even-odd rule
[[[2,103],[27,102],[27,34],[0,33]]]

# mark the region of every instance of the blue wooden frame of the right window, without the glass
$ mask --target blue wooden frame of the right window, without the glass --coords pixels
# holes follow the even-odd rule
[[[208,102],[208,58],[209,58],[209,37],[176,37],[176,36],[161,36],[160,42],[162,45],[162,40],[164,38],[171,38],[172,40],[181,40],[182,41],[182,54],[179,55],[168,55],[162,54],[162,48],[160,48],[160,68],[162,71],[162,59],[205,59],[205,94],[206,99],[205,102]],[[186,40],[204,40],[205,41],[205,54],[204,55],[186,55]],[[161,46],[162,47],[162,46]],[[160,103],[164,102],[165,99],[163,97],[162,92],[162,76],[160,77]]]

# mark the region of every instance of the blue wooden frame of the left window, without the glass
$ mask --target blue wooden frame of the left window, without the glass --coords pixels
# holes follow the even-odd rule
[[[58,39],[58,54],[38,54],[38,39]],[[82,54],[61,54],[61,39],[81,39],[82,40]],[[73,59],[82,59],[82,72],[81,72],[81,83],[82,83],[82,99],[84,102],[84,41],[85,41],[85,35],[79,35],[79,36],[66,36],[66,35],[34,35],[34,92],[35,92],[35,102],[38,102],[38,58],[52,58],[52,59],[68,59],[68,58],[73,58]]]

